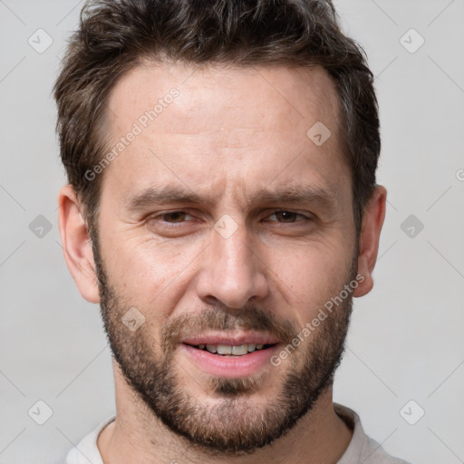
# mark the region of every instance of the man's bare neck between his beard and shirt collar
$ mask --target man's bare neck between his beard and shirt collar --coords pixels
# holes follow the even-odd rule
[[[252,453],[238,456],[212,455],[192,446],[169,430],[138,398],[115,368],[116,419],[100,434],[98,448],[104,464],[154,464],[156,462],[202,462],[204,464],[275,464],[324,462],[335,464],[353,436],[333,411],[332,387],[313,409],[284,437]]]

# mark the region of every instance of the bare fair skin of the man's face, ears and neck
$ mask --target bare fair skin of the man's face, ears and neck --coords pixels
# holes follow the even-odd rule
[[[198,314],[210,304],[234,314],[250,302],[304,327],[343,288],[358,245],[357,270],[364,278],[353,296],[370,292],[386,190],[375,189],[358,242],[350,169],[340,143],[339,103],[328,74],[317,67],[144,63],[122,76],[111,91],[105,128],[111,141],[131,131],[140,115],[173,87],[179,97],[101,174],[99,236],[105,270],[118,294],[144,314],[145,330],[157,339],[161,326],[181,314]],[[306,136],[316,121],[332,132],[320,147]],[[167,184],[187,186],[211,202],[125,208],[127,198]],[[254,199],[258,189],[296,184],[332,192],[332,206]],[[92,243],[83,207],[70,186],[61,189],[59,206],[67,266],[82,297],[98,304]],[[176,227],[169,228],[160,217],[152,219],[179,210],[189,216]],[[291,222],[273,214],[282,210],[313,220],[297,216]],[[237,225],[227,238],[214,228],[223,215]],[[188,374],[182,374],[186,391],[205,407],[218,401],[204,374],[182,352],[174,355],[179,376]],[[259,372],[260,388],[243,401],[264,408],[292,369],[295,365],[287,359],[278,369]],[[312,411],[272,445],[251,455],[212,457],[164,426],[134,394],[117,362],[114,377],[117,417],[98,440],[105,463],[272,459],[329,464],[340,459],[352,437],[333,411],[328,388]]]

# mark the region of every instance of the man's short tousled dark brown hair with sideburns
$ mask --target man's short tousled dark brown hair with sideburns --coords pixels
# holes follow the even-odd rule
[[[330,0],[93,0],[82,8],[53,88],[61,158],[91,236],[102,175],[89,180],[85,172],[108,150],[106,102],[121,75],[146,58],[324,67],[343,112],[342,142],[360,233],[381,150],[378,107],[365,53],[341,31]]]

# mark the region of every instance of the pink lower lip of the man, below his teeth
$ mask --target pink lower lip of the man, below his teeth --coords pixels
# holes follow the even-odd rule
[[[242,356],[221,356],[206,350],[199,350],[185,343],[182,343],[180,347],[202,371],[226,378],[247,377],[259,372],[270,364],[271,356],[278,349],[278,345],[275,344],[266,350],[258,350]]]

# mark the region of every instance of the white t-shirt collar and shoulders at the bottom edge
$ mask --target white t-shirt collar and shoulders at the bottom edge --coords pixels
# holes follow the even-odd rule
[[[333,403],[333,409],[353,430],[352,440],[337,464],[411,464],[387,454],[377,441],[369,438],[364,433],[356,412],[338,403]],[[104,464],[97,447],[97,439],[100,432],[113,420],[114,417],[104,420],[82,439],[77,447],[71,449],[66,456],[65,464]]]

